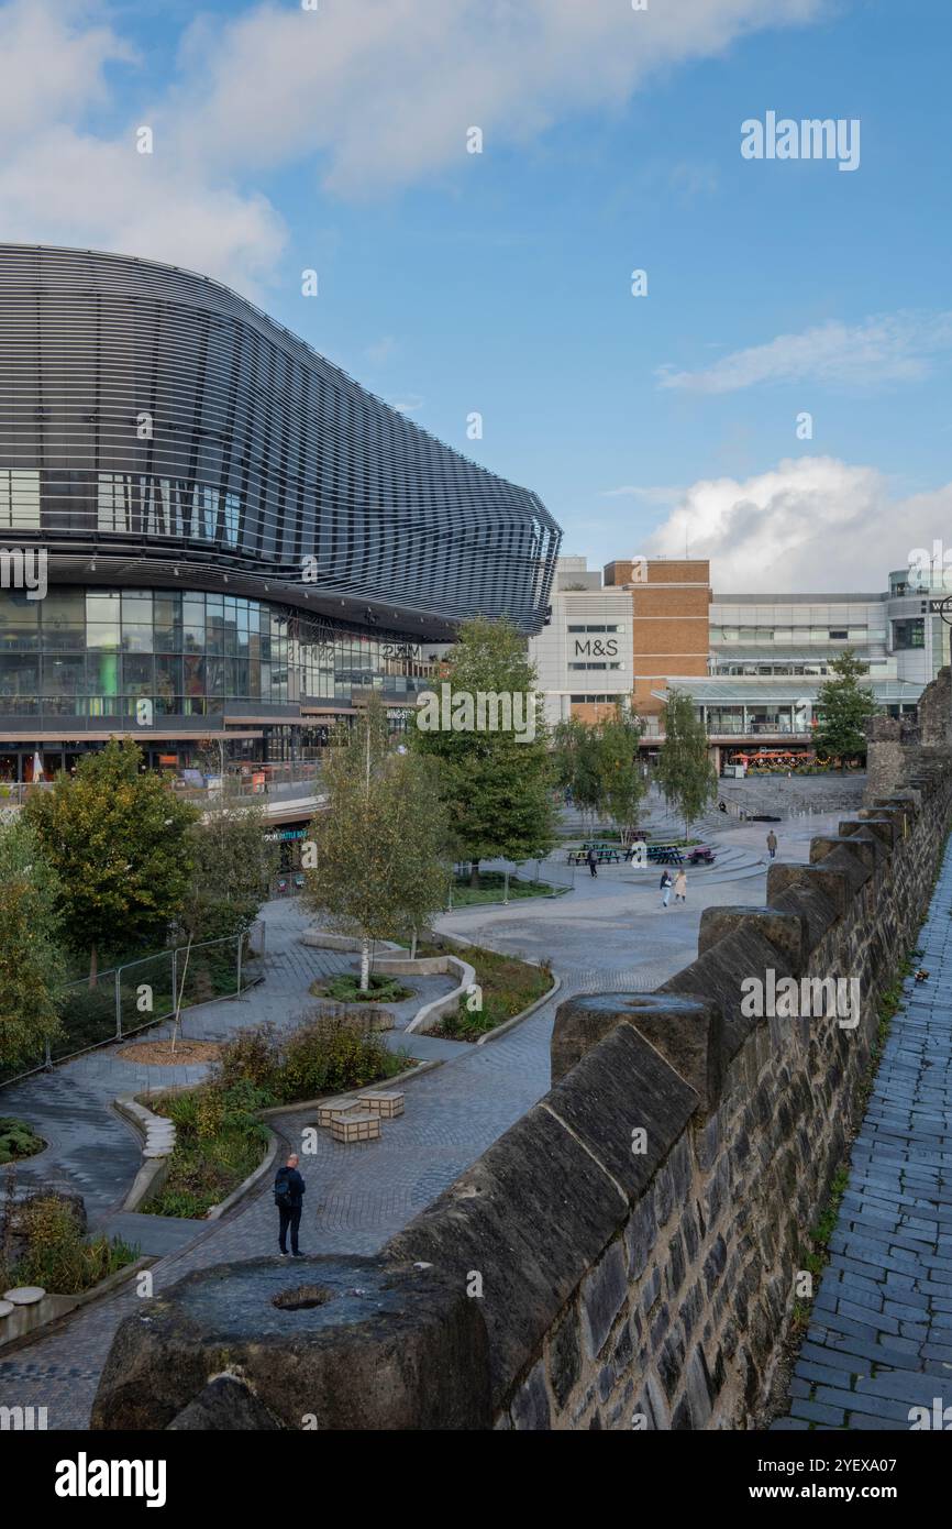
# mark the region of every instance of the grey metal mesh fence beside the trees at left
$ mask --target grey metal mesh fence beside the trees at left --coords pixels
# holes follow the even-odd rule
[[[264,956],[264,930],[258,920],[241,936],[203,940],[191,950],[176,945],[112,966],[96,976],[93,986],[89,977],[67,983],[58,1040],[47,1041],[43,1058],[32,1066],[0,1072],[0,1087],[170,1020],[177,997],[183,1009],[237,998],[257,982],[254,962]]]

